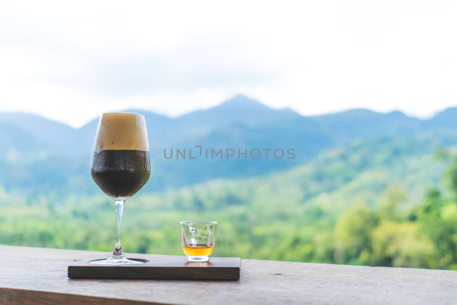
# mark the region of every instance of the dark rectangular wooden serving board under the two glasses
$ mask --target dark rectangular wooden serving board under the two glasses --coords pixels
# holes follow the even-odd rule
[[[68,266],[69,278],[225,279],[239,280],[239,257],[211,257],[209,262],[187,262],[185,256],[165,256],[138,265],[95,265],[92,258]],[[132,258],[129,258],[132,259]],[[143,260],[143,259],[135,259]],[[143,260],[144,261],[144,260]]]

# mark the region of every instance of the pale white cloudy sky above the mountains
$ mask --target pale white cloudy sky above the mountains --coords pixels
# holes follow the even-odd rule
[[[1,1],[0,111],[80,126],[244,93],[427,117],[457,105],[456,16],[440,0]]]

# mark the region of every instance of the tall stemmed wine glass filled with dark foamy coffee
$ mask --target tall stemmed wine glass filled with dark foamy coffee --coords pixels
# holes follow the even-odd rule
[[[92,162],[92,179],[116,205],[116,245],[101,265],[140,264],[124,257],[121,249],[122,210],[125,201],[148,182],[151,173],[144,117],[125,112],[103,113],[98,123]]]

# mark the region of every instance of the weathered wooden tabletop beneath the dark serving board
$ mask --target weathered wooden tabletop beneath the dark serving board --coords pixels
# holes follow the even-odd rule
[[[69,264],[103,254],[0,246],[0,304],[457,304],[457,272],[446,270],[244,259],[239,281],[67,277]]]

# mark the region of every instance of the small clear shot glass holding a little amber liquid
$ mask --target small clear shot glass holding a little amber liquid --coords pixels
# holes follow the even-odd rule
[[[216,221],[181,221],[181,241],[188,262],[207,262],[213,253]]]

